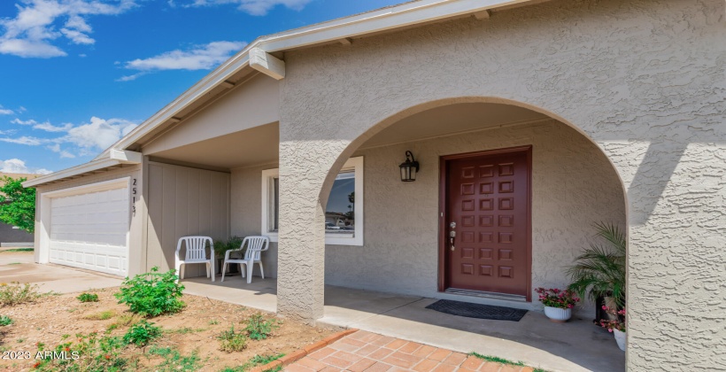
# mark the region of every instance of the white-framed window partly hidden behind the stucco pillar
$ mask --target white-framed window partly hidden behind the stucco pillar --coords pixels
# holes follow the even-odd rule
[[[277,241],[280,221],[278,169],[262,171],[262,234]],[[325,207],[325,244],[363,245],[363,157],[345,162]]]

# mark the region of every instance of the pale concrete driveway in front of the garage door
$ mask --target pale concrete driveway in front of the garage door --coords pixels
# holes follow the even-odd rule
[[[40,291],[71,293],[94,288],[118,287],[121,278],[58,265],[38,265],[33,252],[12,252],[0,248],[0,283],[35,283]]]

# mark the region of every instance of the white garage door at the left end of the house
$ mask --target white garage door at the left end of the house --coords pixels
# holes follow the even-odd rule
[[[50,199],[50,262],[127,275],[127,187]]]

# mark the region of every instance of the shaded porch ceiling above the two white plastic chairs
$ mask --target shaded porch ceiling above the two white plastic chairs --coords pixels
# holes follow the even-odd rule
[[[277,162],[279,143],[280,126],[274,122],[160,151],[153,156],[179,163],[232,169]]]

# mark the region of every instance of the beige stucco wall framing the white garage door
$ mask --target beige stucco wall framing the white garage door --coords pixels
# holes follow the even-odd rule
[[[143,174],[142,166],[127,166],[118,169],[112,169],[108,172],[100,174],[91,174],[85,177],[69,180],[65,182],[52,183],[50,185],[42,185],[35,190],[35,262],[41,262],[40,258],[40,236],[41,236],[41,209],[40,201],[42,193],[70,189],[78,186],[86,186],[92,183],[116,180],[123,177],[131,177],[137,180],[136,189],[139,198],[136,199],[136,213],[132,214],[129,228],[129,246],[128,246],[128,275],[136,275],[146,270],[146,260],[144,260],[145,246],[143,246],[142,229],[143,229]],[[47,259],[46,259],[47,260]]]

